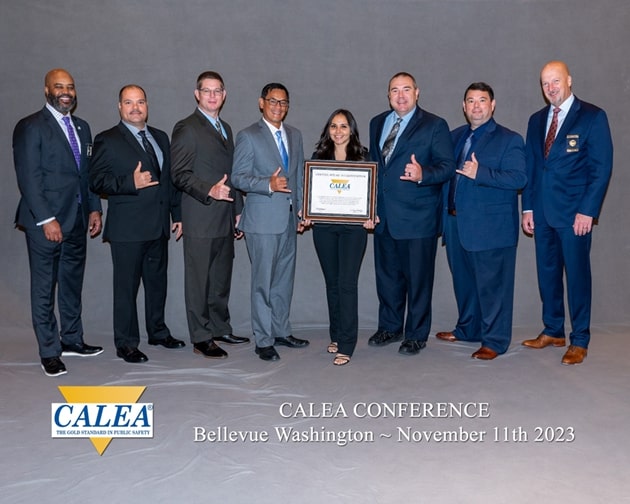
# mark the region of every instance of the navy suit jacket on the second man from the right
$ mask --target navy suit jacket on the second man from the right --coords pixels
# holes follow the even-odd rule
[[[468,136],[468,125],[451,133],[456,158]],[[518,241],[518,193],[527,182],[523,138],[498,125],[494,119],[471,149],[479,162],[474,180],[459,176],[455,207],[459,240],[470,252],[513,247]],[[453,177],[444,184],[444,215]],[[448,245],[448,236],[445,236]]]

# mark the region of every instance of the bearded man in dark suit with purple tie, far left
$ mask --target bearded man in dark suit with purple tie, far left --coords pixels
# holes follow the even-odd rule
[[[25,231],[31,270],[31,314],[42,368],[65,374],[61,356],[100,354],[86,345],[81,321],[86,231],[101,232],[101,204],[88,190],[92,151],[88,124],[71,115],[74,79],[60,68],[46,74],[46,106],[13,131],[13,159],[22,195],[15,224]],[[59,328],[55,317],[55,291]]]

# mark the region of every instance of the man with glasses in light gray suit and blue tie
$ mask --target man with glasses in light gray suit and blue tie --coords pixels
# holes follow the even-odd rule
[[[252,263],[252,329],[256,354],[280,359],[274,345],[300,348],[308,341],[291,334],[297,232],[304,173],[302,134],[284,124],[289,91],[267,84],[258,99],[262,118],[236,136],[232,185],[246,193],[239,230]]]

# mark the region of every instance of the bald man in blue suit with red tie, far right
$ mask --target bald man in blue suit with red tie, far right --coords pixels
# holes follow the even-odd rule
[[[540,73],[549,102],[529,118],[527,186],[522,226],[534,235],[544,329],[523,341],[530,348],[565,346],[564,285],[571,317],[562,364],[584,361],[590,340],[591,237],[612,172],[613,146],[606,113],[579,100],[562,61]],[[534,233],[535,229],[535,233]]]

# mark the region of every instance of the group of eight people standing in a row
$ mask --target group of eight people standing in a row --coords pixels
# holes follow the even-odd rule
[[[45,79],[47,104],[15,128],[13,149],[22,194],[16,225],[26,234],[31,308],[45,374],[66,372],[61,356],[103,351],[83,341],[81,285],[86,231],[101,231],[98,195],[108,200],[104,239],[114,271],[114,342],[127,362],[145,362],[136,297],[145,290],[148,342],[182,348],[164,322],[167,240],[183,236],[185,304],[195,353],[225,358],[217,342],[235,336],[228,309],[234,240],[245,236],[251,261],[255,353],[276,361],[276,346],[301,348],[289,320],[297,234],[313,228],[326,283],[333,363],[350,362],[358,336],[358,277],[367,233],[374,232],[378,328],[373,347],[401,342],[416,355],[431,329],[438,237],[443,236],[458,308],[443,341],[479,342],[472,357],[504,353],[512,332],[519,220],[534,235],[544,328],[530,348],[565,346],[564,281],[572,324],[563,364],[581,363],[590,338],[590,246],[612,170],[612,140],[603,110],[571,92],[563,62],[547,63],[541,86],[549,105],[530,118],[527,142],[493,119],[494,91],[468,86],[467,124],[418,106],[420,90],[406,72],[388,86],[390,109],[370,122],[369,151],[345,109],[328,118],[312,159],[377,163],[377,216],[363,225],[312,223],[301,214],[304,148],[285,123],[289,91],[263,87],[260,120],[234,136],[220,118],[222,77],[197,79],[197,108],[171,135],[146,124],[138,85],[119,94],[121,121],[96,136],[72,116],[74,81],[65,70]],[[78,140],[77,140],[78,139]],[[522,190],[522,217],[518,193]],[[535,229],[535,233],[534,233]],[[57,296],[60,326],[54,314]]]

